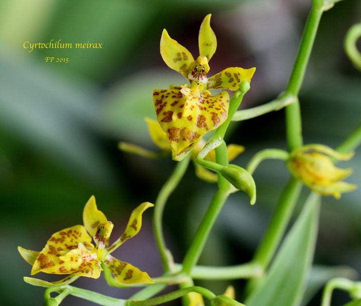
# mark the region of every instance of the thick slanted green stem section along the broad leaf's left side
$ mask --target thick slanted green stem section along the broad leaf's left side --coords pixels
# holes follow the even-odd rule
[[[291,178],[285,186],[276,210],[273,213],[267,231],[258,245],[252,262],[266,270],[272,260],[277,247],[283,237],[284,231],[292,216],[293,209],[297,203],[301,192],[302,184],[296,179]],[[250,292],[258,283],[258,279],[253,278],[247,283],[246,292]]]

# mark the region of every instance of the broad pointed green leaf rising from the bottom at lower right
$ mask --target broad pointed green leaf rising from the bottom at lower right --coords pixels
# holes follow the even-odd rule
[[[246,300],[247,306],[300,304],[312,264],[318,213],[319,196],[312,193],[282,243],[268,275]]]

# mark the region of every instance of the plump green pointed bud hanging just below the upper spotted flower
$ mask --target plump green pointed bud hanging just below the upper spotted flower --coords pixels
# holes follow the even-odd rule
[[[245,169],[230,164],[225,166],[220,173],[234,187],[248,194],[251,199],[251,204],[255,204],[256,184],[252,176]]]

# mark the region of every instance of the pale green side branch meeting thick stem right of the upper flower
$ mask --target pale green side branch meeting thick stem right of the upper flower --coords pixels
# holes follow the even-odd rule
[[[243,121],[255,118],[271,111],[280,110],[283,107],[296,101],[297,98],[295,96],[283,93],[277,99],[274,99],[266,104],[262,104],[248,109],[237,110],[232,118],[232,121]]]

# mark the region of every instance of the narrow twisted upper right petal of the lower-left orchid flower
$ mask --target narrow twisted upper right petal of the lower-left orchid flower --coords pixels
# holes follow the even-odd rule
[[[154,206],[154,204],[144,202],[132,211],[124,233],[108,248],[109,253],[139,232],[142,224],[142,214],[147,208],[152,206]]]

